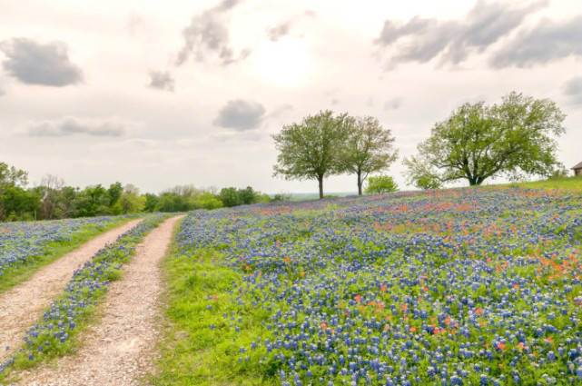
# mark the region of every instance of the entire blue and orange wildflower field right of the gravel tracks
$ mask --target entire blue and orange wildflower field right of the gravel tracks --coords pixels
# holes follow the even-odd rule
[[[582,384],[582,195],[190,213],[154,384]]]

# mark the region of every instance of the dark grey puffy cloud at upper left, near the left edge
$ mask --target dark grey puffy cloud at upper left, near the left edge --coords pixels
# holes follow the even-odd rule
[[[0,51],[6,56],[5,71],[25,84],[62,87],[83,80],[83,72],[71,63],[62,42],[40,44],[20,37],[0,43]]]

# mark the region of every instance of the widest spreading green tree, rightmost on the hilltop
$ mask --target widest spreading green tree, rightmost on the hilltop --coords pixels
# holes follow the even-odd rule
[[[550,175],[560,164],[556,137],[565,117],[554,102],[518,93],[492,106],[463,104],[405,160],[409,181],[480,185],[500,175]]]

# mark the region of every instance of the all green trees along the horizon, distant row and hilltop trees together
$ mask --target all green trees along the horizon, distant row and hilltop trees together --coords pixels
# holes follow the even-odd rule
[[[563,175],[566,170],[557,160],[557,137],[566,132],[565,117],[554,102],[515,92],[498,104],[462,104],[433,126],[416,155],[404,158],[408,183],[438,189],[458,180],[479,185],[500,176]],[[284,125],[273,139],[279,151],[274,175],[315,180],[320,198],[325,178],[340,173],[356,177],[359,194],[366,181],[366,193],[398,190],[389,175],[370,176],[387,170],[399,153],[390,129],[377,118],[321,111]],[[271,200],[250,186],[217,191],[184,185],[159,194],[141,194],[132,184],[80,189],[50,175],[38,186],[27,185],[25,171],[0,163],[0,221],[182,212]]]

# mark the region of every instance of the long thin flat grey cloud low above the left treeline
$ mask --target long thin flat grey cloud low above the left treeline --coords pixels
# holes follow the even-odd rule
[[[35,137],[65,137],[83,134],[94,137],[120,137],[124,133],[125,129],[122,124],[111,122],[82,122],[74,117],[66,117],[60,121],[35,124],[28,129],[28,134]]]

